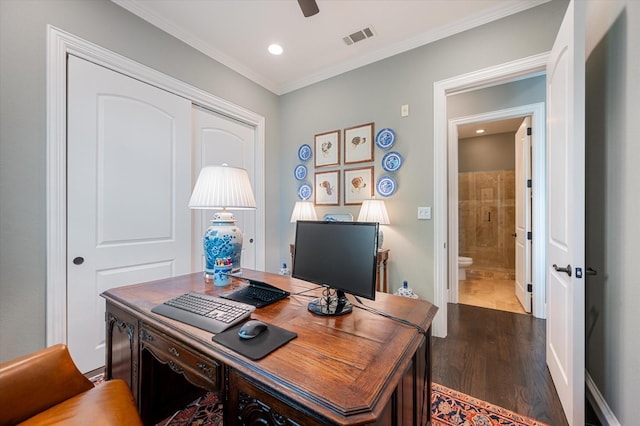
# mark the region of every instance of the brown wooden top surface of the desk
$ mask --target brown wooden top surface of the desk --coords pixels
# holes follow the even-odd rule
[[[237,371],[277,390],[290,401],[312,407],[329,419],[380,414],[401,375],[412,362],[412,355],[424,336],[414,327],[359,309],[349,296],[351,314],[318,316],[307,310],[312,297],[320,295],[318,286],[295,278],[243,269],[242,276],[267,282],[292,295],[272,305],[256,309],[253,319],[297,333],[298,337],[265,358],[252,361],[212,342],[204,330],[154,314],[151,308],[187,291],[217,295],[227,287],[205,283],[195,273],[120,287],[103,296],[112,304],[135,311],[143,321],[167,334],[179,333],[193,347],[231,366]],[[234,278],[233,285],[246,285]],[[304,292],[302,294],[299,294]],[[423,300],[377,293],[376,300],[361,299],[365,305],[405,319],[428,329],[437,307]],[[371,420],[371,418],[369,418]]]

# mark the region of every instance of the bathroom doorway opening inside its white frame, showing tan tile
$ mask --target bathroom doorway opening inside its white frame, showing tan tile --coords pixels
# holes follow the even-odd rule
[[[520,203],[531,196],[516,184],[531,170],[516,146],[519,129],[526,131],[529,122],[521,116],[458,126],[459,303],[531,312],[530,293],[523,301],[516,297],[516,265],[527,263],[516,250],[516,195],[525,192],[518,194]]]

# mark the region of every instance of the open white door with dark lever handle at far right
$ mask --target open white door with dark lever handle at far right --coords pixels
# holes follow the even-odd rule
[[[584,424],[584,8],[569,4],[547,65],[547,365],[571,425]]]

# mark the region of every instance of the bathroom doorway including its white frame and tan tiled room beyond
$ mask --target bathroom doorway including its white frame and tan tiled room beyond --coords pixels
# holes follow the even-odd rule
[[[473,304],[518,313],[531,312],[531,304],[523,307],[516,298],[515,291],[518,262],[514,236],[516,188],[527,192],[525,196],[529,202],[532,203],[534,198],[531,196],[531,188],[526,188],[526,180],[531,175],[528,179],[516,177],[515,134],[525,117],[530,117],[530,127],[533,129],[530,138],[532,148],[528,152],[533,154],[533,147],[544,143],[544,120],[540,120],[540,117],[544,117],[544,103],[449,120],[451,303]],[[482,135],[469,133],[480,127],[485,130]],[[529,156],[534,159],[529,163],[534,176],[539,176],[542,173],[540,167],[544,167],[539,154]],[[516,184],[516,179],[522,180],[521,184]],[[520,197],[522,199],[522,194]],[[534,210],[529,207],[529,218],[533,218],[535,222],[536,217],[539,219],[540,216]],[[531,242],[529,239],[528,244]],[[529,291],[536,287],[528,285],[534,284],[532,278],[535,274],[531,271],[541,264],[544,267],[543,257],[539,254],[536,256],[534,249],[535,247],[531,247],[528,255],[532,267],[529,269],[525,289]],[[466,270],[459,269],[459,256],[471,259],[472,263]],[[521,262],[520,270],[522,264]],[[527,297],[531,301],[531,293]]]

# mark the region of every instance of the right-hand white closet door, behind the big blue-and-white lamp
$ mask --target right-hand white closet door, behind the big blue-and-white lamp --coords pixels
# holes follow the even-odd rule
[[[204,108],[193,108],[193,143],[194,164],[193,182],[204,166],[226,163],[230,166],[247,170],[256,199],[259,186],[256,185],[256,136],[255,128],[237,120],[225,117]],[[242,267],[256,269],[256,219],[255,210],[232,211],[236,225],[242,230]],[[210,210],[194,210],[194,256],[193,270],[203,271],[205,259],[202,247],[202,236],[213,218]]]

